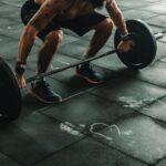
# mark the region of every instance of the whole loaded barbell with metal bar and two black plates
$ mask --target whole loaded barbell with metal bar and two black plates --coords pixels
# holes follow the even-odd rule
[[[154,34],[149,25],[142,20],[127,20],[126,25],[129,32],[129,40],[134,43],[134,48],[129,52],[122,53],[115,49],[61,69],[31,76],[27,79],[27,83],[34,81],[38,77],[55,74],[70,68],[77,66],[114,53],[116,53],[120,60],[131,69],[139,70],[147,66],[156,55],[156,39],[162,38],[163,34]],[[116,30],[114,35],[115,48],[117,48],[120,41],[121,34]],[[2,96],[0,103],[0,123],[2,124],[15,120],[20,115],[22,108],[22,97],[18,81],[10,66],[2,59],[0,59],[0,94]]]

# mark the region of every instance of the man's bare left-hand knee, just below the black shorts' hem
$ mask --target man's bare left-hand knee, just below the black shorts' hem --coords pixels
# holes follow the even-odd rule
[[[63,39],[62,30],[52,31],[45,37],[45,40],[51,44],[59,44],[62,42],[62,39]]]

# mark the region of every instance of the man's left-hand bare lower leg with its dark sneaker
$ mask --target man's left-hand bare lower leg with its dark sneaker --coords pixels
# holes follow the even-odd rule
[[[44,38],[43,44],[38,52],[38,74],[46,72],[62,38],[63,33],[61,30],[54,30]],[[29,92],[31,95],[44,103],[62,101],[62,97],[59,94],[51,91],[44,79],[39,77],[34,83],[32,83]]]

